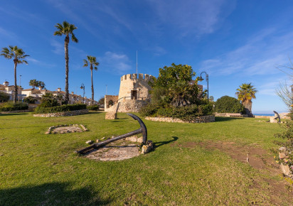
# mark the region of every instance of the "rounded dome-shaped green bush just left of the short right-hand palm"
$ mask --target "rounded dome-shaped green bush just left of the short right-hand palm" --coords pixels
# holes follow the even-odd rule
[[[244,113],[243,104],[238,99],[223,96],[215,102],[215,112],[218,113]]]

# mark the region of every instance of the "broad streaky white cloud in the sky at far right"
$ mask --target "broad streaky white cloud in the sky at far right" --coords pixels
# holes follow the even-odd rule
[[[216,58],[205,60],[201,66],[213,75],[266,75],[279,72],[278,65],[288,62],[293,49],[293,33],[277,34],[275,29],[263,30],[244,45]]]

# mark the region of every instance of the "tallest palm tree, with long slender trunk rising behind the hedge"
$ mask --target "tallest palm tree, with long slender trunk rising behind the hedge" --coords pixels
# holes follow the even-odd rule
[[[69,44],[69,36],[71,35],[71,40],[73,42],[78,43],[78,39],[75,37],[73,31],[77,29],[77,27],[74,24],[70,24],[67,21],[63,21],[62,24],[57,23],[55,25],[56,28],[58,28],[58,31],[54,32],[55,36],[62,36],[65,35],[65,43],[64,43],[64,49],[65,49],[65,104],[68,104],[69,102],[69,90],[68,90],[68,44]]]

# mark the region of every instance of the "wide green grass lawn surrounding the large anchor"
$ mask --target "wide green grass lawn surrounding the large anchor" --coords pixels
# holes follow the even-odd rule
[[[94,161],[73,152],[87,140],[139,128],[127,114],[41,118],[0,114],[0,205],[290,205],[291,186],[219,149],[196,143],[277,148],[277,124],[259,119],[216,118],[209,124],[144,120],[151,153],[124,161]],[[58,124],[84,124],[90,131],[45,134]],[[195,143],[193,146],[183,146]],[[270,154],[271,155],[271,154]],[[281,172],[279,172],[281,173]],[[274,184],[279,185],[278,192]]]

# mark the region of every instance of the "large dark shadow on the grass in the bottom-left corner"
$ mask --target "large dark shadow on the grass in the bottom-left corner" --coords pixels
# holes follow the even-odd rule
[[[69,183],[0,190],[0,205],[108,205],[90,188],[70,190]]]

